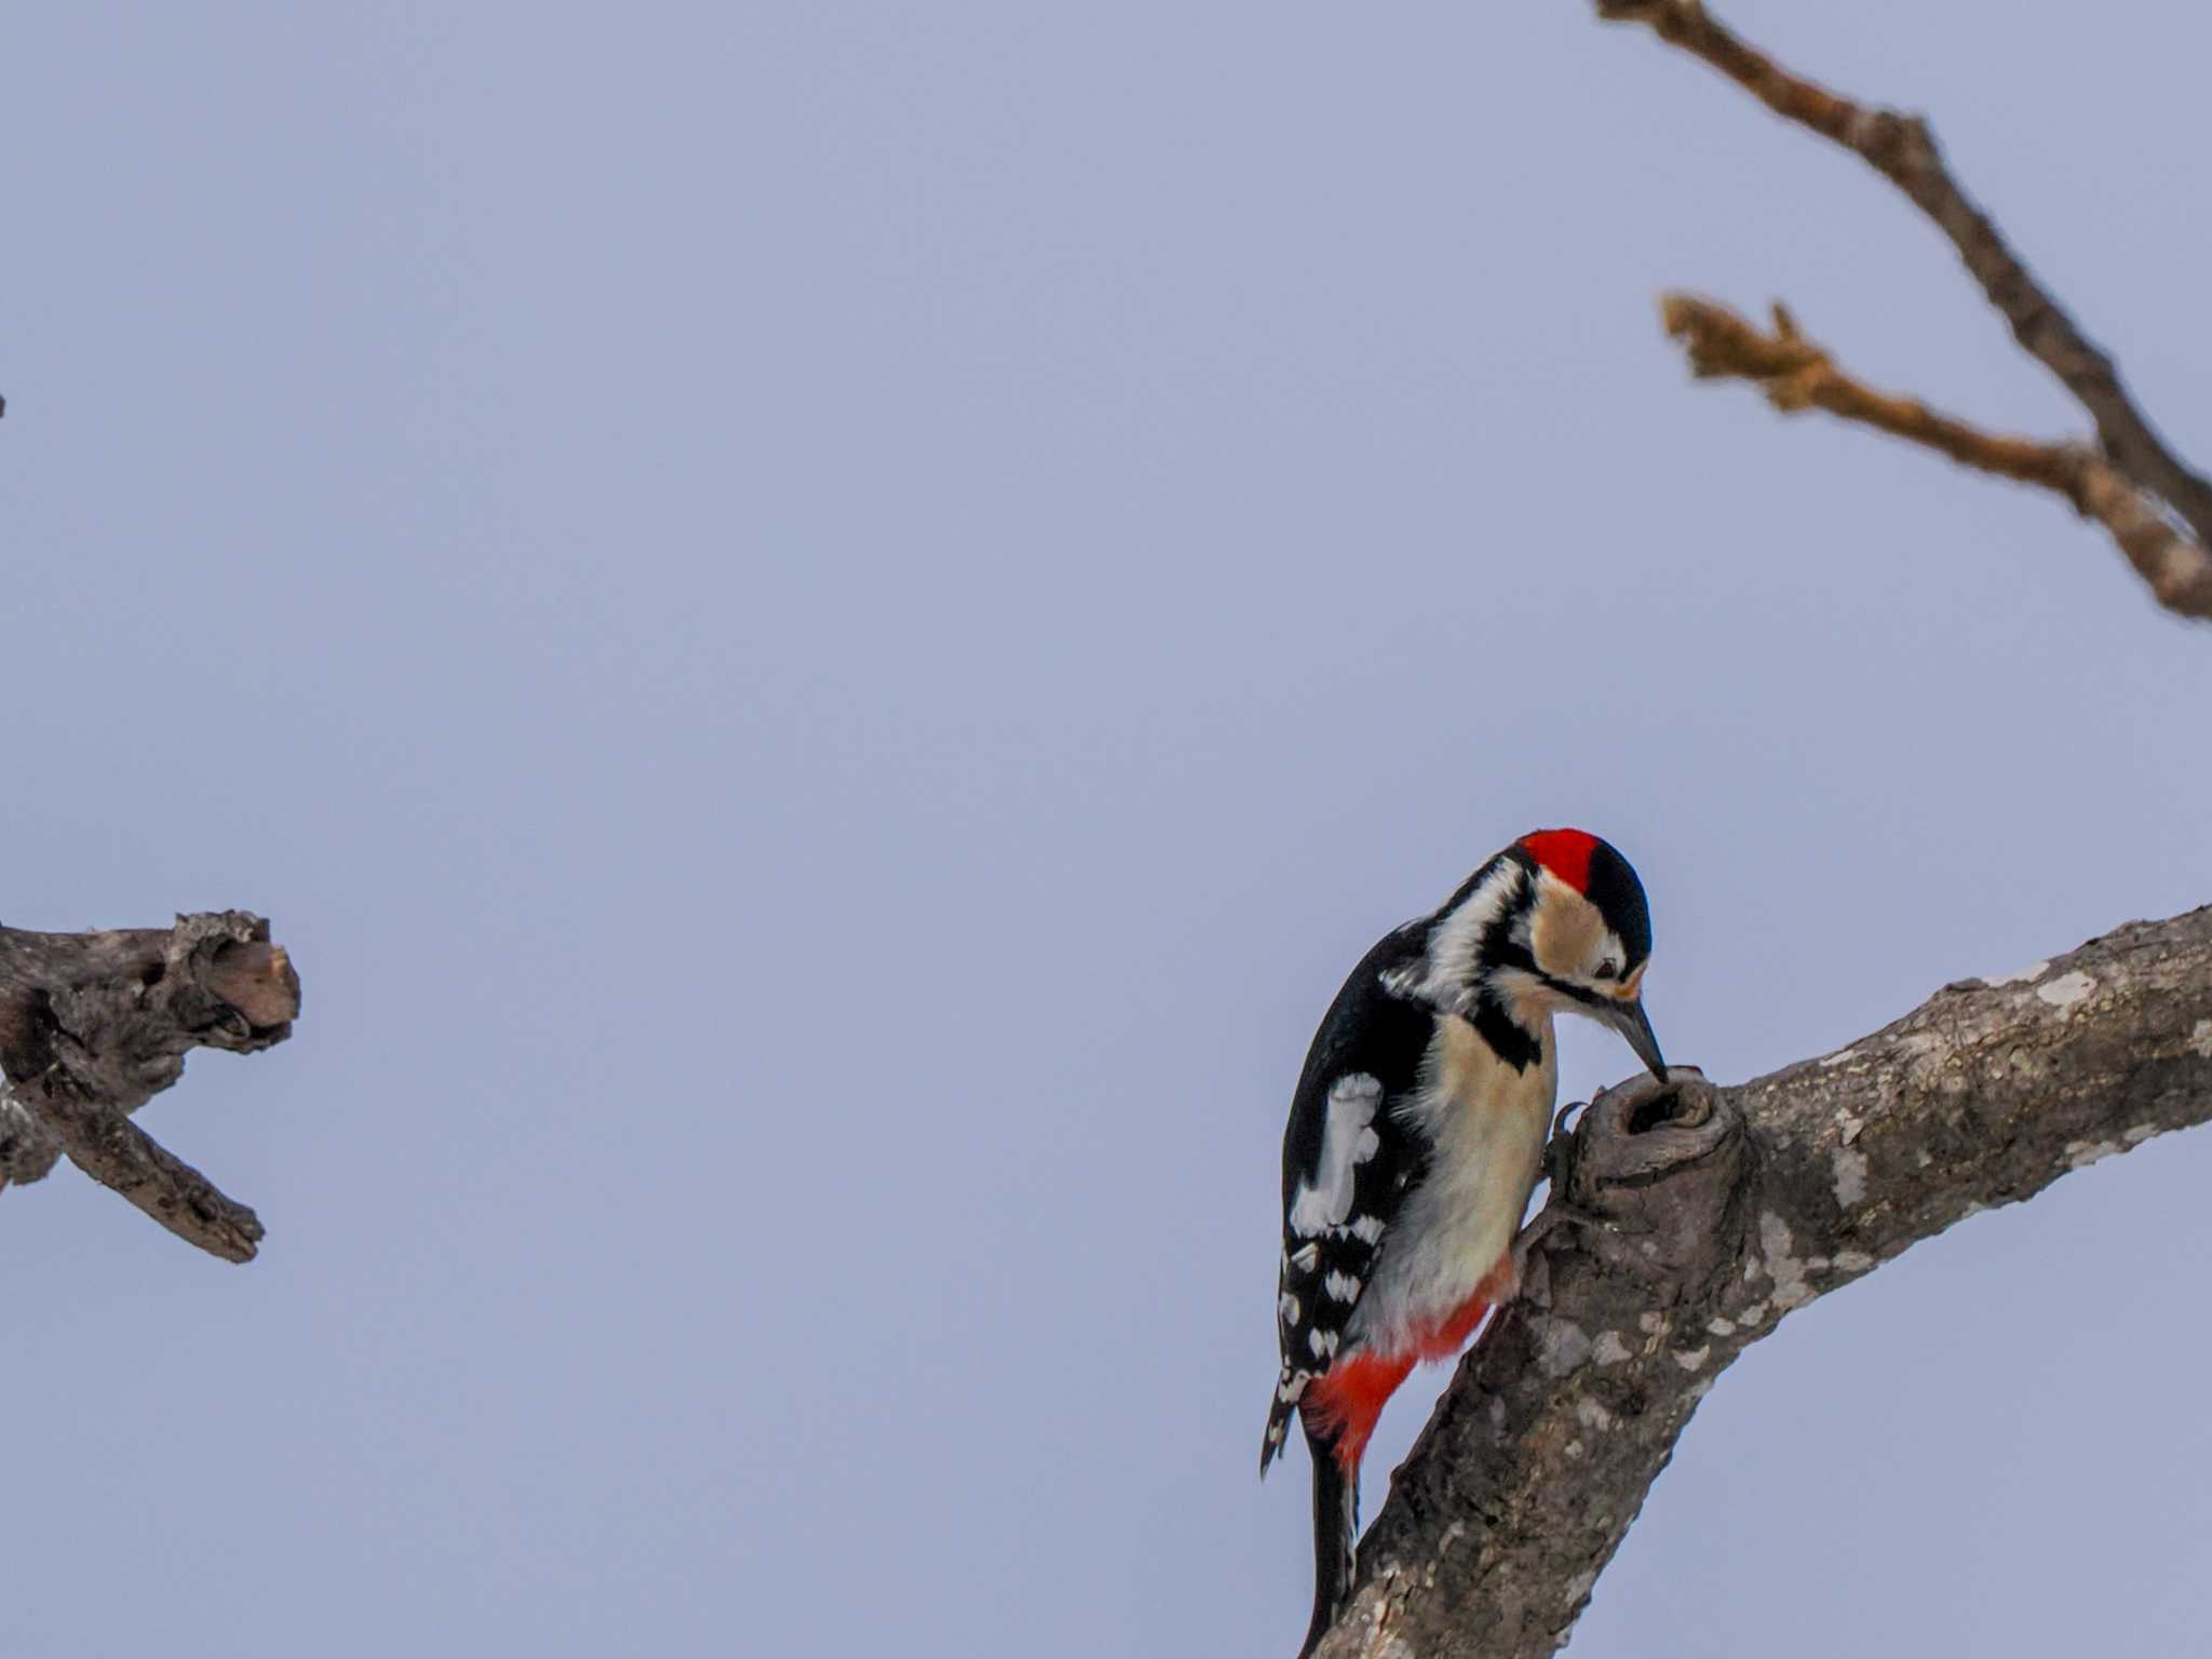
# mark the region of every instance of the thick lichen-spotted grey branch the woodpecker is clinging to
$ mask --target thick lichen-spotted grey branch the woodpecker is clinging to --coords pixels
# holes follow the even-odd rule
[[[1316,1659],[1555,1652],[1750,1343],[1964,1217],[2208,1117],[2212,909],[1944,987],[1750,1084],[1606,1091],[1548,1203],[1571,1214],[1394,1475]]]

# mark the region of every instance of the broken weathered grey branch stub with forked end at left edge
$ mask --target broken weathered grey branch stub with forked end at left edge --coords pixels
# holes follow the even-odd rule
[[[257,1053],[292,1035],[299,975],[259,916],[170,929],[0,927],[0,1188],[58,1157],[223,1261],[252,1261],[254,1212],[168,1152],[131,1113],[184,1075],[190,1048]]]

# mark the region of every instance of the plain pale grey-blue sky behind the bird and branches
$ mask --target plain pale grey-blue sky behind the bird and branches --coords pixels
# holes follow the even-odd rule
[[[2212,22],[1725,15],[2212,462]],[[1287,1655],[1276,1146],[1376,933],[1584,823],[1734,1079],[2212,898],[2212,639],[1652,296],[2079,418],[1582,4],[73,4],[0,93],[0,916],[307,987],[148,1110],[259,1263],[0,1194],[4,1652]],[[2194,1648],[2208,1181],[1794,1318],[1575,1652]]]

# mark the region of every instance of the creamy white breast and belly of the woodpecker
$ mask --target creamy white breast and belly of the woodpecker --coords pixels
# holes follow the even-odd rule
[[[1402,1354],[1511,1250],[1559,1088],[1551,1020],[1540,1042],[1544,1057],[1515,1071],[1467,1020],[1436,1022],[1422,1086],[1398,1108],[1429,1139],[1429,1175],[1383,1237],[1367,1294],[1352,1312],[1352,1340]]]

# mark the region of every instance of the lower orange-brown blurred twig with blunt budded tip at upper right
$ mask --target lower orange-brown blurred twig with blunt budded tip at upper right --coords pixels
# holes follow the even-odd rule
[[[1836,367],[1781,305],[1774,332],[1697,294],[1659,301],[1666,332],[1683,343],[1699,378],[1752,380],[1783,414],[1827,409],[1843,420],[1933,449],[1962,467],[2037,484],[2073,502],[2112,535],[2168,611],[2212,622],[2212,553],[2174,529],[2104,456],[2081,445],[1982,431],[1918,398],[1878,392]]]

